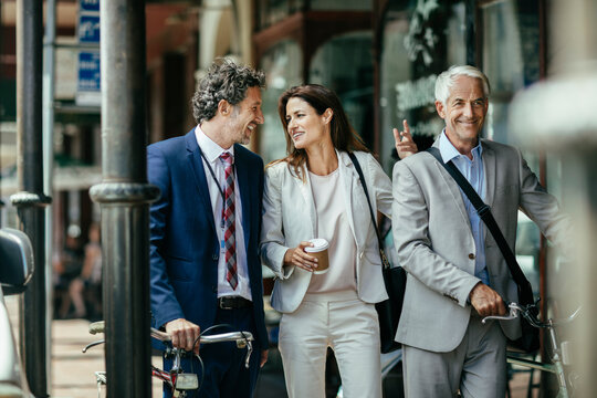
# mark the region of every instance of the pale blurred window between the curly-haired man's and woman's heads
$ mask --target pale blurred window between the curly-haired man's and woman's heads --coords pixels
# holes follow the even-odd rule
[[[287,88],[303,83],[303,53],[295,41],[282,41],[261,59],[268,87],[262,94],[265,123],[260,126],[259,151],[265,163],[286,156],[286,138],[277,115],[277,98]]]

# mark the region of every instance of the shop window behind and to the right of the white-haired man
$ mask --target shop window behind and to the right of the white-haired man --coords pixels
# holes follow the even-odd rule
[[[504,0],[480,6],[482,69],[491,83],[485,137],[516,144],[509,136],[507,114],[514,94],[540,80],[538,1]],[[538,155],[525,150],[528,167],[538,176]],[[516,260],[533,291],[540,291],[541,233],[537,226],[519,212]]]

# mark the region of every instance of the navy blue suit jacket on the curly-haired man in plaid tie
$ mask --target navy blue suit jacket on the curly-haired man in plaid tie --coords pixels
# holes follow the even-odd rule
[[[234,164],[242,201],[242,230],[253,298],[256,341],[265,349],[263,283],[259,259],[263,161],[241,145]],[[150,208],[151,323],[186,318],[213,325],[218,296],[218,234],[195,128],[182,137],[147,147],[147,177],[161,189]]]

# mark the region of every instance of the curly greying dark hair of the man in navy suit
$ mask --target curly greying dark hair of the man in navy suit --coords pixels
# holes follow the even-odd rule
[[[247,97],[249,87],[265,87],[265,74],[227,59],[217,59],[199,82],[192,96],[192,116],[200,124],[216,116],[221,100],[237,105]]]

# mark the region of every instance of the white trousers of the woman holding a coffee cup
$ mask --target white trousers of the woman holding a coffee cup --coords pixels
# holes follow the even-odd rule
[[[345,398],[381,397],[379,324],[356,292],[306,294],[280,321],[279,348],[290,398],[325,397],[327,347],[336,356]]]

